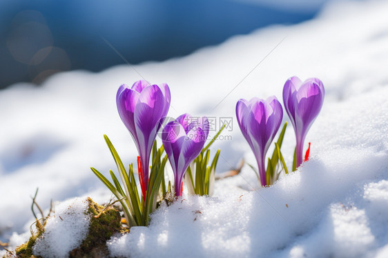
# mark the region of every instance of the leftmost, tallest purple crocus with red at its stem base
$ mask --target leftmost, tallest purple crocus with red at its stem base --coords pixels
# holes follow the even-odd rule
[[[148,163],[152,146],[170,108],[170,101],[170,89],[166,83],[157,86],[140,80],[133,83],[132,88],[123,84],[117,90],[119,116],[135,141],[142,163],[139,179],[143,195],[144,189],[148,187]]]

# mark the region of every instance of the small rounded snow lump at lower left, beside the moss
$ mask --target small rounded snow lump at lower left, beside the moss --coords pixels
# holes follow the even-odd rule
[[[66,258],[88,235],[90,216],[88,201],[75,198],[55,207],[55,216],[48,218],[45,231],[32,248],[34,255]]]

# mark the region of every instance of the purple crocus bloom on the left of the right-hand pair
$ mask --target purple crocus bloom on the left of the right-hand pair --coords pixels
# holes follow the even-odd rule
[[[250,101],[240,99],[236,106],[237,122],[258,162],[260,183],[266,186],[265,155],[282,123],[282,105],[275,96]]]

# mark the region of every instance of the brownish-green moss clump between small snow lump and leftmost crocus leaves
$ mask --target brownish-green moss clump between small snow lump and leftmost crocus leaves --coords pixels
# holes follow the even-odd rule
[[[120,212],[112,206],[106,208],[96,204],[88,198],[88,210],[90,216],[88,236],[79,248],[70,252],[70,257],[108,257],[106,241],[117,232],[124,232]]]

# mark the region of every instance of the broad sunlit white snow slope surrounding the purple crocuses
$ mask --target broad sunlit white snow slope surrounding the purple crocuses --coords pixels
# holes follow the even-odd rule
[[[184,195],[159,208],[151,226],[113,237],[108,248],[133,257],[388,257],[387,13],[384,1],[331,4],[312,21],[144,63],[135,66],[139,73],[126,65],[67,72],[42,88],[21,84],[0,92],[1,239],[28,231],[37,187],[44,208],[50,199],[110,198],[89,167],[108,175],[115,166],[104,133],[126,163],[137,156],[115,107],[121,83],[142,77],[168,83],[171,117],[233,117],[233,130],[223,133],[233,139],[213,146],[222,150],[222,172],[243,156],[255,164],[235,120],[237,100],[276,95],[281,101],[284,82],[297,75],[318,77],[326,89],[307,135],[310,160],[300,170],[259,188],[245,166],[241,175],[216,182],[215,197]],[[294,146],[289,126],[282,152],[290,166]],[[20,241],[12,237],[13,245]]]

